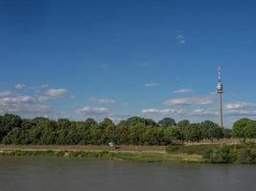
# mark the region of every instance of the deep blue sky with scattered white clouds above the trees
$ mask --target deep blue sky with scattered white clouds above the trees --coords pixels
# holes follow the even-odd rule
[[[0,0],[0,113],[256,118],[254,1]]]

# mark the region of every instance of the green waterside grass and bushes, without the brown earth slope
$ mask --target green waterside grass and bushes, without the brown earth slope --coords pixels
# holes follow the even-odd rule
[[[0,157],[111,159],[146,162],[210,162],[256,163],[256,144],[201,144],[167,146],[166,152],[78,151],[78,150],[12,150],[0,152]]]

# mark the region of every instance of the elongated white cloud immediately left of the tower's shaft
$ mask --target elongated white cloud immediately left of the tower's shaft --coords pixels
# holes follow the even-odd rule
[[[165,105],[168,106],[185,106],[185,105],[207,105],[213,103],[213,96],[201,97],[184,97],[167,100]]]

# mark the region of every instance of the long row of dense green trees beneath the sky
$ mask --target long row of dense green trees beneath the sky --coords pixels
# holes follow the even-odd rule
[[[93,118],[71,121],[46,117],[26,119],[12,114],[0,116],[0,141],[4,144],[104,145],[114,142],[116,145],[169,145],[232,137],[256,138],[256,121],[240,119],[231,130],[210,120],[191,123],[185,119],[176,123],[171,117],[158,122],[150,118],[130,117],[114,124],[110,118],[97,122]]]

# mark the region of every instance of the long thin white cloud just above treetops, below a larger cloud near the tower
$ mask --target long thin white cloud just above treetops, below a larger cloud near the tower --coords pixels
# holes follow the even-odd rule
[[[144,115],[158,115],[158,116],[176,116],[176,115],[185,115],[184,110],[175,110],[175,109],[143,109],[141,111]]]

